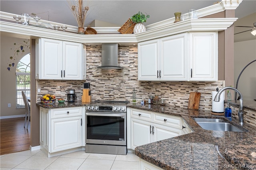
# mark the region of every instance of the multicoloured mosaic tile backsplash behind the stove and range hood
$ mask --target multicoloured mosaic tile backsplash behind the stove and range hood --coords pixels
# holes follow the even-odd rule
[[[94,100],[127,100],[132,101],[132,91],[135,88],[137,101],[147,100],[149,95],[158,95],[166,99],[166,103],[176,107],[188,107],[190,92],[200,92],[199,109],[212,110],[212,91],[224,87],[224,81],[215,82],[156,82],[138,81],[137,46],[118,47],[119,66],[130,71],[96,69],[101,65],[101,46],[86,47],[86,81],[76,80],[38,80],[37,88],[44,94],[54,94],[57,98],[67,99],[65,90],[74,89],[77,101],[81,101],[83,83],[90,83],[91,97]],[[64,90],[65,89],[65,90]]]

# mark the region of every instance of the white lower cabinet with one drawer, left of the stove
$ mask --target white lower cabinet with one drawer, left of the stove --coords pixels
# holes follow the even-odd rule
[[[49,157],[54,152],[85,146],[83,110],[82,107],[40,107],[40,148]]]

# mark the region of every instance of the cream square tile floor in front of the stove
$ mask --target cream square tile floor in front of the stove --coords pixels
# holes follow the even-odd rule
[[[1,170],[138,170],[139,157],[93,154],[84,150],[48,158],[41,150],[1,155]]]

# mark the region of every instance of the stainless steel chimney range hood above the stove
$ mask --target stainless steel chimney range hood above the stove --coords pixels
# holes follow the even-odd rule
[[[102,64],[98,69],[127,69],[118,66],[118,43],[102,44]],[[127,69],[130,71],[129,69]]]

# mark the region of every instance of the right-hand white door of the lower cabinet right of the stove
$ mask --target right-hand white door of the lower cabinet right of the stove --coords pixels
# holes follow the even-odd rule
[[[184,134],[184,132],[181,129],[167,127],[163,125],[154,124],[152,128],[152,133],[154,140],[153,142],[164,140],[168,138],[173,138],[175,136],[180,136]]]

